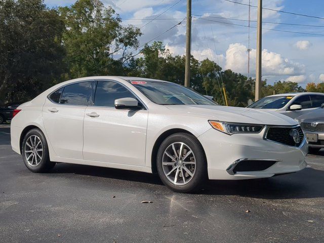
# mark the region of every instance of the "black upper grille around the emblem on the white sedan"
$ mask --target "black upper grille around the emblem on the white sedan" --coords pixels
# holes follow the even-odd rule
[[[299,141],[296,143],[293,137],[293,131],[297,130]],[[285,144],[288,146],[299,147],[304,140],[304,133],[300,126],[297,127],[269,127],[266,135],[266,140],[276,143]]]

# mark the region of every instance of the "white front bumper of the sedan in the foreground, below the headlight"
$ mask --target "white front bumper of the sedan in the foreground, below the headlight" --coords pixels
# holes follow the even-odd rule
[[[210,129],[200,135],[198,140],[203,145],[207,162],[208,176],[212,180],[239,180],[272,177],[300,171],[307,167],[305,156],[308,144],[297,147],[286,146],[263,139],[265,129],[259,134],[227,135]],[[262,171],[229,173],[233,163],[241,159],[275,160],[272,166]]]

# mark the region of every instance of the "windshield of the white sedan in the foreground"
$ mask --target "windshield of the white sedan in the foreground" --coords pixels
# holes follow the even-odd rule
[[[146,80],[129,82],[159,105],[217,105],[203,95],[174,83]]]

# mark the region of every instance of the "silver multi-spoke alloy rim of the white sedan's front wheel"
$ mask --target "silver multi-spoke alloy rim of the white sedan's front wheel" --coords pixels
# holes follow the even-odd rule
[[[185,185],[194,176],[196,159],[192,149],[182,142],[170,144],[163,153],[163,171],[175,185]]]

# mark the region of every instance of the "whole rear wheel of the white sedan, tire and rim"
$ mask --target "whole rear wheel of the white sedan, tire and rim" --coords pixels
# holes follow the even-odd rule
[[[21,151],[25,166],[32,172],[48,172],[55,166],[50,161],[46,138],[39,129],[32,129],[25,135]]]

